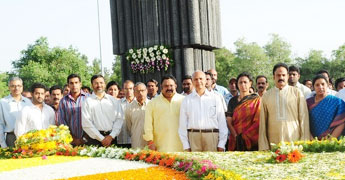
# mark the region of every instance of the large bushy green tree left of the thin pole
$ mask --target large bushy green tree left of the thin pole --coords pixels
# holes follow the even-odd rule
[[[83,85],[90,85],[90,67],[85,55],[72,47],[50,48],[47,38],[41,37],[21,52],[22,57],[12,62],[15,74],[23,79],[25,88],[35,82],[50,87],[63,86],[69,74],[79,74]]]

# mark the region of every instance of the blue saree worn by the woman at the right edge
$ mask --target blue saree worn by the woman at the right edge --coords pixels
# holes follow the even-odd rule
[[[315,97],[310,97],[307,99],[307,105],[313,137],[322,139],[345,123],[345,102],[335,96],[328,95],[320,102],[315,102]]]

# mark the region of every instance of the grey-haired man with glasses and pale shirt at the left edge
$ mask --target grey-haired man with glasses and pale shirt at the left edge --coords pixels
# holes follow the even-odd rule
[[[32,104],[31,100],[22,96],[22,79],[13,77],[9,80],[8,86],[10,95],[0,101],[0,144],[2,148],[14,147],[16,119],[24,106]]]

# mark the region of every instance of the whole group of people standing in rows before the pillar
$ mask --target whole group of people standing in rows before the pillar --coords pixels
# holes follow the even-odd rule
[[[20,135],[64,124],[72,144],[116,145],[176,151],[269,150],[271,143],[340,137],[345,126],[345,79],[332,90],[329,73],[320,71],[303,85],[300,70],[278,63],[274,87],[264,75],[243,72],[230,78],[229,90],[217,84],[217,72],[195,71],[181,82],[164,76],[159,83],[126,80],[122,88],[102,75],[83,87],[77,74],[49,90],[40,83],[23,92],[23,81],[9,80],[10,95],[0,103],[0,144],[13,147]],[[339,88],[338,87],[342,87]],[[25,97],[24,97],[25,96]],[[29,99],[30,98],[30,99]]]

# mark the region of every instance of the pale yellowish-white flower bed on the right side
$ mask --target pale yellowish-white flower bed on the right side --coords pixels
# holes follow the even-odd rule
[[[304,153],[298,163],[268,163],[271,152],[178,153],[210,159],[243,179],[345,179],[345,153]]]

